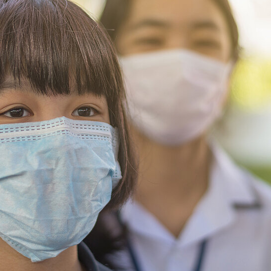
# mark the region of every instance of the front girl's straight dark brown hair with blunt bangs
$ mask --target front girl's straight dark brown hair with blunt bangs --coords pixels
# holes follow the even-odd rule
[[[116,53],[107,34],[68,0],[0,0],[0,90],[8,75],[28,80],[43,95],[105,95],[110,124],[118,127],[122,180],[107,207],[118,207],[135,182],[125,92]]]

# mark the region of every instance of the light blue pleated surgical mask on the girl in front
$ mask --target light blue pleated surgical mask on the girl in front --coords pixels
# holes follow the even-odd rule
[[[32,262],[79,244],[121,178],[118,133],[71,120],[0,125],[0,237]]]

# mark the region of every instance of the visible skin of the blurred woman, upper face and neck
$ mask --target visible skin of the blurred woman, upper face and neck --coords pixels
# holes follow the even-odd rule
[[[231,59],[228,25],[213,0],[133,0],[116,47],[122,56],[179,48]],[[212,155],[205,133],[168,147],[132,130],[140,157],[135,199],[178,237],[208,188]]]

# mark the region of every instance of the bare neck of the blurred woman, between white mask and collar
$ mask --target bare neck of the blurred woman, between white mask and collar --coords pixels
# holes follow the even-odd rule
[[[176,237],[208,187],[211,152],[205,138],[160,145],[136,130],[139,183],[135,199]]]

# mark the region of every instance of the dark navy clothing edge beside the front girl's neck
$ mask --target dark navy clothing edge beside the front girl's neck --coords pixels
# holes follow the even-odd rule
[[[87,271],[111,271],[95,260],[90,249],[84,242],[78,245],[78,258]]]

